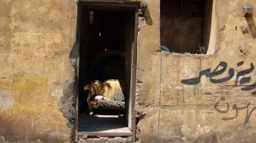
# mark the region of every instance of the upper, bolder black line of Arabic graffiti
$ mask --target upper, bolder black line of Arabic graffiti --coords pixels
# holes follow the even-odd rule
[[[238,62],[237,63],[237,67],[243,65],[244,62]],[[229,81],[230,79],[232,79],[235,75],[235,69],[234,68],[229,68],[228,71],[228,76],[225,78],[220,78],[220,79],[213,79],[213,77],[216,77],[218,75],[222,75],[225,71],[226,71],[226,66],[227,63],[226,62],[220,62],[219,65],[217,65],[217,67],[214,69],[214,71],[211,72],[211,68],[207,68],[204,69],[203,71],[199,72],[199,75],[197,78],[189,78],[189,79],[185,79],[182,80],[181,83],[182,84],[188,84],[188,85],[195,85],[195,84],[199,84],[201,82],[201,76],[205,76],[207,78],[210,78],[211,83],[213,84],[219,84],[219,83],[223,83],[226,81]],[[239,81],[239,78],[245,75],[250,74],[252,71],[254,71],[254,64],[251,63],[250,64],[250,68],[239,71],[236,74],[236,81],[235,81],[235,86],[239,84],[248,84],[249,82],[251,82],[251,77],[245,77],[245,78],[241,78],[241,80]],[[242,87],[242,91],[251,91],[254,90],[256,88],[256,82],[252,85],[249,85],[247,87]],[[251,95],[256,96],[256,91],[253,91],[251,93]]]

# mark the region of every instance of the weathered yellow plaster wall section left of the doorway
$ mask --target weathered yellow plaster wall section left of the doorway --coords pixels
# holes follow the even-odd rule
[[[0,140],[69,142],[76,2],[1,0],[0,9]]]

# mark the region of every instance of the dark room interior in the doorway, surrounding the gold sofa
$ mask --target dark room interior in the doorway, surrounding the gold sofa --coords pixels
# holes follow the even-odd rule
[[[135,8],[82,7],[80,14],[78,132],[132,135],[127,116]],[[84,87],[95,80],[109,79],[125,81],[126,110],[96,109],[89,115],[88,93]],[[120,114],[123,116],[118,117]]]

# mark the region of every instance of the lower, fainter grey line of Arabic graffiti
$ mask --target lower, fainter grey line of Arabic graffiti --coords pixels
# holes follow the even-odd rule
[[[221,97],[221,99],[219,99],[215,105],[214,105],[214,109],[220,113],[227,113],[229,111],[229,102],[226,102],[226,110],[220,110],[220,108],[218,108],[219,104],[221,101],[225,101],[225,98],[224,97]],[[233,105],[232,107],[232,110],[235,110],[236,111],[236,114],[233,116],[233,117],[223,117],[222,120],[234,120],[236,119],[236,117],[238,116],[239,114],[239,110],[244,110],[246,109],[246,117],[245,117],[245,123],[248,123],[248,121],[250,120],[250,117],[251,117],[251,114],[254,110],[256,110],[256,106],[254,106],[254,108],[251,109],[251,111],[249,112],[249,105],[250,105],[250,102],[247,103],[247,105],[245,106],[242,106],[242,107],[239,107],[237,106],[236,104]]]

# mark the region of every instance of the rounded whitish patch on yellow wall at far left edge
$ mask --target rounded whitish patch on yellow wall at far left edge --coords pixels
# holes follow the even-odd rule
[[[8,91],[0,90],[0,110],[5,110],[14,105],[14,97]]]

